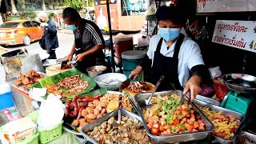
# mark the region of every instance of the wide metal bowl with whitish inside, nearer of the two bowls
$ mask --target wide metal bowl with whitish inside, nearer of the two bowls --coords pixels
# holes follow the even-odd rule
[[[95,78],[99,87],[106,87],[107,90],[119,90],[122,82],[126,81],[125,74],[120,73],[107,73],[98,75]]]

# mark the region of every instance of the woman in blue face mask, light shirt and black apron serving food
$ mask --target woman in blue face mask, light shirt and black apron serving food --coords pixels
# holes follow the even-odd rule
[[[159,34],[150,39],[145,58],[131,71],[130,77],[137,78],[142,70],[150,71],[147,81],[156,84],[164,75],[160,90],[190,90],[190,98],[201,92],[200,85],[207,70],[196,42],[180,33],[186,18],[178,7],[161,6],[156,12]]]

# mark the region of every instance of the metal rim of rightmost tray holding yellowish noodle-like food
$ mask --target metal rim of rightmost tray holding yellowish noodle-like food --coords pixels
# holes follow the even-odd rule
[[[238,130],[234,133],[234,137],[231,138],[231,139],[224,139],[224,138],[221,138],[221,137],[218,137],[214,134],[210,134],[212,136],[212,141],[213,142],[219,142],[219,143],[235,143],[235,140],[236,138],[238,137],[238,134],[242,128],[242,124],[244,123],[245,121],[245,117],[242,115],[242,114],[239,114],[237,112],[234,112],[232,110],[227,110],[223,107],[220,107],[220,106],[214,106],[214,105],[211,105],[209,103],[206,103],[206,102],[202,102],[202,101],[198,101],[198,100],[194,100],[194,103],[200,105],[200,106],[205,106],[205,107],[208,107],[210,108],[210,110],[214,110],[214,111],[222,111],[222,114],[227,114],[227,115],[232,115],[234,116],[234,118],[237,118],[240,120],[241,124],[240,126],[238,126]]]

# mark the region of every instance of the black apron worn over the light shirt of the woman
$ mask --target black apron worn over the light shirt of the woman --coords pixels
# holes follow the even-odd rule
[[[163,38],[158,42],[157,50],[154,52],[154,62],[150,74],[150,82],[154,85],[162,75],[165,76],[158,87],[158,91],[174,90],[174,87],[177,90],[182,90],[182,86],[178,81],[178,53],[182,46],[183,39],[184,35],[180,34],[174,46],[174,55],[172,58],[165,57],[160,53]]]

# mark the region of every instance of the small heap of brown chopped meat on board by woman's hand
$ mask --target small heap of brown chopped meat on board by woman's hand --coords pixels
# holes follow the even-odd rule
[[[138,82],[130,82],[130,85],[127,88],[134,93],[142,93],[146,92],[149,87],[146,85],[146,82],[138,81]]]

